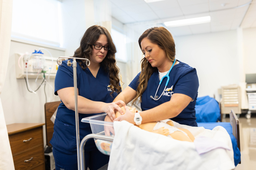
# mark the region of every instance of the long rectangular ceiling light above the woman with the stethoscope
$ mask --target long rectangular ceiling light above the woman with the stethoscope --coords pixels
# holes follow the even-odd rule
[[[190,18],[185,20],[176,20],[176,21],[168,21],[164,22],[166,27],[180,27],[185,25],[194,25],[194,24],[202,24],[211,22],[211,17],[199,17],[199,18]]]

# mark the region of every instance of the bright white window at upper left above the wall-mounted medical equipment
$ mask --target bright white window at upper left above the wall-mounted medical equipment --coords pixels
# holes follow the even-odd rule
[[[60,47],[61,2],[13,0],[12,37]]]

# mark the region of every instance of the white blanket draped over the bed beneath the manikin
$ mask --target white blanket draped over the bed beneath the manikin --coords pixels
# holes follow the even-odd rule
[[[115,138],[110,153],[108,170],[231,170],[235,168],[232,143],[223,127],[213,130],[189,127],[174,122],[177,128],[186,128],[196,137],[206,136],[223,142],[231,148],[217,148],[199,155],[193,142],[142,130],[126,121],[114,122]]]

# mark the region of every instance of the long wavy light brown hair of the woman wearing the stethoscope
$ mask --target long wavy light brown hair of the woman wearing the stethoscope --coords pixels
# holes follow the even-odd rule
[[[139,38],[139,45],[141,49],[141,41],[147,38],[150,42],[157,44],[160,48],[165,50],[166,56],[170,61],[175,59],[175,43],[171,33],[164,27],[152,27],[146,30]],[[142,50],[142,49],[141,49]],[[137,101],[141,102],[142,93],[148,86],[148,80],[156,67],[152,67],[151,64],[144,57],[141,60],[141,73],[139,76],[139,85],[137,87],[137,96],[133,100],[132,104]]]

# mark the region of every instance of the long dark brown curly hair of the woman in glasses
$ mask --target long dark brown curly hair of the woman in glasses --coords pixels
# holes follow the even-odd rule
[[[104,60],[101,62],[101,65],[103,66],[104,70],[109,74],[110,89],[112,91],[110,95],[112,96],[112,93],[114,92],[117,92],[118,94],[121,93],[121,86],[119,85],[120,80],[118,77],[120,70],[116,66],[116,59],[115,59],[116,47],[108,30],[98,25],[94,25],[88,28],[85,31],[80,41],[80,46],[76,49],[73,57],[90,59],[90,55],[92,54],[92,51],[93,51],[92,46],[102,34],[107,37],[110,50],[108,50],[108,53],[104,58]],[[82,69],[87,68],[85,62],[86,61],[79,62],[79,65],[81,66]]]

